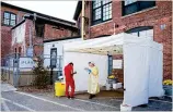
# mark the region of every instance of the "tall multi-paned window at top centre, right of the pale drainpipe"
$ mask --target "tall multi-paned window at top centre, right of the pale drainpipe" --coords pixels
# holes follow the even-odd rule
[[[112,18],[112,0],[95,0],[92,3],[92,24]]]

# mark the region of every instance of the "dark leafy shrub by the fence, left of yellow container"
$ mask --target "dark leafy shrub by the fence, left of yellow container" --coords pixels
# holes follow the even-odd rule
[[[35,60],[36,66],[33,69],[33,74],[36,75],[33,84],[38,89],[46,88],[50,80],[48,71],[43,66],[43,62],[44,61],[38,57],[37,60]]]

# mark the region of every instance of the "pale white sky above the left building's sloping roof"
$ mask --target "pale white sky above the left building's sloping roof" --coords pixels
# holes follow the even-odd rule
[[[67,21],[73,21],[73,14],[77,7],[77,0],[59,1],[3,1],[13,5],[25,8],[32,11],[41,12],[50,16],[59,17]]]

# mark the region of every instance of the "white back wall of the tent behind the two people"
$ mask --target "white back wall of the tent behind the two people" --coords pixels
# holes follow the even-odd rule
[[[104,86],[107,78],[107,55],[90,54],[90,53],[77,53],[66,52],[64,55],[64,66],[69,62],[73,62],[73,69],[77,71],[74,74],[76,91],[88,90],[89,73],[84,67],[89,67],[89,62],[93,61],[99,67],[99,84]]]

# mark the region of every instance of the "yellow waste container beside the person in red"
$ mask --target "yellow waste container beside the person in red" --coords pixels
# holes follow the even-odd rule
[[[55,83],[55,96],[57,96],[57,97],[65,96],[65,91],[66,91],[66,85],[60,82],[56,82]]]

